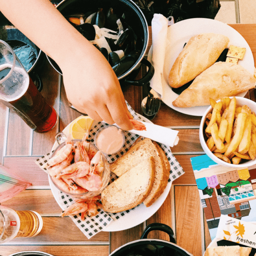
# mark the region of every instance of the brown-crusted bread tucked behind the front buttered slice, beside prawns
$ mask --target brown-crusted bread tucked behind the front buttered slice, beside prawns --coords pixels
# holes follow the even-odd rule
[[[151,206],[157,200],[168,183],[171,167],[163,149],[156,142],[148,138],[139,137],[131,148],[110,166],[111,172],[120,177],[140,163],[143,157],[149,156],[154,157],[155,179],[151,192],[143,201],[146,207]]]

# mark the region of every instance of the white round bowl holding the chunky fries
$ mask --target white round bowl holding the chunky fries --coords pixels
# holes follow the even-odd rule
[[[233,97],[230,97],[230,99],[232,99]],[[219,102],[220,100],[218,100],[217,102]],[[236,96],[236,105],[237,106],[243,106],[243,105],[247,105],[252,112],[256,113],[256,102],[253,102],[250,99],[246,99],[246,98],[242,98],[242,97],[237,97]],[[240,164],[233,164],[233,163],[227,163],[223,160],[221,160],[220,158],[216,157],[207,147],[206,142],[204,140],[204,133],[203,133],[203,128],[204,128],[204,123],[206,120],[206,115],[208,113],[212,112],[212,107],[209,106],[209,108],[207,108],[207,110],[205,111],[202,119],[201,119],[201,123],[200,123],[200,128],[199,128],[199,139],[200,139],[200,143],[202,148],[204,149],[204,152],[208,155],[208,157],[210,157],[215,163],[218,163],[222,166],[229,166],[229,167],[249,167],[249,166],[253,166],[256,164],[256,159],[254,160],[247,160],[244,163],[240,163]]]

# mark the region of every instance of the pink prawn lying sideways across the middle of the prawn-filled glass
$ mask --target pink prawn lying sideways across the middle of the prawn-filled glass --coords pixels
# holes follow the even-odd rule
[[[87,175],[90,171],[90,165],[86,162],[76,162],[67,166],[61,173],[56,176],[57,179],[64,177],[67,179],[81,178]]]

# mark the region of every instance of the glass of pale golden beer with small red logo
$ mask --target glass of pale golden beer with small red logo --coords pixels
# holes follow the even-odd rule
[[[43,219],[35,211],[15,211],[0,205],[0,244],[17,237],[32,237],[40,233]]]

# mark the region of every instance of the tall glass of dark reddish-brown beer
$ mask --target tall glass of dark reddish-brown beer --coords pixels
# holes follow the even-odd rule
[[[6,42],[0,40],[0,102],[17,113],[30,128],[50,131],[58,122],[29,74]]]

